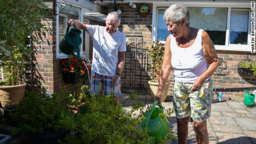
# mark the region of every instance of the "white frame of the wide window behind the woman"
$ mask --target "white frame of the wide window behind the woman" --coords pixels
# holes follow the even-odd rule
[[[151,41],[155,41],[157,38],[157,16],[158,9],[166,8],[166,6],[171,6],[174,3],[181,3],[187,7],[225,7],[228,8],[228,16],[227,16],[227,31],[226,31],[226,41],[225,46],[214,45],[217,50],[225,50],[225,51],[251,51],[250,49],[250,2],[191,2],[191,1],[183,1],[183,2],[154,2],[153,3],[153,11],[152,11],[152,38]],[[249,11],[249,19],[248,19],[248,44],[229,44],[229,36],[230,36],[230,14],[231,10],[241,10],[241,11]],[[167,31],[167,29],[166,29]],[[165,43],[165,42],[164,42]]]

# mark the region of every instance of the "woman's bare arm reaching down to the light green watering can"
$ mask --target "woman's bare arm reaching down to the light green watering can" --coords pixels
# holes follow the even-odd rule
[[[161,67],[160,77],[159,77],[159,86],[156,93],[156,98],[161,103],[162,92],[164,90],[164,86],[166,81],[169,78],[171,72],[171,48],[170,48],[170,36],[166,38],[165,42],[165,50],[164,50],[164,62]]]

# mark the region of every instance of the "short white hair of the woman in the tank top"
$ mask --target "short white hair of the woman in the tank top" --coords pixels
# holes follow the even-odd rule
[[[172,4],[164,12],[164,20],[166,22],[179,23],[183,18],[185,18],[186,26],[189,26],[189,11],[183,4]]]

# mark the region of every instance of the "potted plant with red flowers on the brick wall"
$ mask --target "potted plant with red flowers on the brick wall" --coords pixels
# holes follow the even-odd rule
[[[61,59],[60,70],[62,73],[62,80],[65,83],[75,83],[78,80],[81,80],[81,78],[83,80],[88,78],[87,68],[89,71],[91,70],[91,61],[85,57],[81,59],[71,55],[68,56],[68,58]]]

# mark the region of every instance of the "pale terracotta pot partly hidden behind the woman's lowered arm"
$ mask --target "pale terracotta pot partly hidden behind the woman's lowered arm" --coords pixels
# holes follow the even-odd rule
[[[159,83],[158,82],[152,82],[152,81],[149,81],[148,83],[149,83],[149,87],[150,87],[150,95],[151,95],[152,99],[154,100],[155,96],[156,96],[156,93],[157,93]],[[165,87],[164,87],[162,97],[161,97],[161,102],[164,102],[166,100],[169,85],[170,85],[169,82],[165,83]]]

